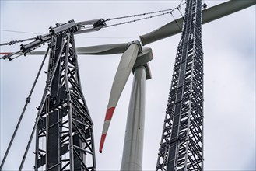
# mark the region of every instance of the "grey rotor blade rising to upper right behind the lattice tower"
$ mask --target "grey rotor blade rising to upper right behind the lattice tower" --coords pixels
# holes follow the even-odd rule
[[[242,9],[246,9],[247,7],[250,7],[251,5],[255,4],[255,0],[232,0],[229,2],[224,2],[222,4],[213,6],[212,8],[205,9],[202,11],[202,24],[209,23],[215,19],[219,19],[223,16],[230,15],[233,12],[238,12]],[[173,36],[177,33],[181,33],[183,20],[183,18],[176,19],[176,21],[167,23],[166,25],[161,26],[159,29],[153,30],[150,33],[146,33],[140,36],[139,38],[141,39],[143,46],[146,44],[153,43],[154,41]]]

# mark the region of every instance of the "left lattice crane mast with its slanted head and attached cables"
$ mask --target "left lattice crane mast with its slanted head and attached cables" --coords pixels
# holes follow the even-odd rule
[[[86,170],[96,170],[94,141],[93,141],[93,122],[90,119],[85,99],[82,95],[82,89],[79,86],[79,69],[77,65],[74,34],[88,33],[100,30],[106,26],[106,21],[115,19],[124,19],[136,16],[146,16],[154,13],[161,13],[155,16],[144,17],[149,19],[156,16],[163,16],[174,9],[167,9],[157,12],[148,12],[139,15],[118,17],[113,19],[94,19],[75,23],[71,20],[68,23],[56,24],[56,27],[50,27],[50,31],[44,35],[38,35],[26,40],[16,40],[1,45],[12,45],[23,41],[34,40],[29,44],[21,44],[20,51],[12,54],[5,54],[2,59],[18,58],[26,55],[41,45],[49,44],[50,59],[47,71],[47,85],[44,95],[38,108],[37,118],[30,134],[30,140],[26,146],[23,160],[19,170],[23,169],[27,152],[36,132],[36,162],[34,169],[38,170],[42,166],[46,169],[78,169],[81,167]],[[117,23],[110,26],[117,26],[125,23],[131,23],[142,19]],[[92,25],[92,26],[88,26]],[[88,26],[88,27],[86,27]],[[48,54],[48,50],[45,57]],[[17,55],[12,58],[13,55]],[[72,67],[70,66],[72,65]],[[39,72],[40,73],[40,72]],[[68,86],[69,85],[69,86]],[[33,86],[34,87],[34,86]],[[73,95],[73,96],[72,96]],[[29,101],[26,101],[27,103]],[[26,103],[26,105],[27,105]],[[23,113],[19,118],[16,130],[9,143],[2,160],[1,169],[11,148],[12,141],[15,138],[16,131],[19,128]],[[62,120],[62,121],[61,121]],[[63,121],[65,120],[65,121]],[[72,138],[71,135],[72,134]],[[53,136],[54,135],[54,136]],[[58,135],[58,136],[55,136]],[[40,140],[47,140],[47,147],[40,148]],[[65,154],[69,154],[69,157]],[[89,157],[89,155],[91,157]],[[86,163],[86,164],[85,164]]]

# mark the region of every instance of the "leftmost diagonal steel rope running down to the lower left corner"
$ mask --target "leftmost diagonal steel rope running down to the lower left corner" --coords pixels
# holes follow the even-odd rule
[[[47,53],[48,53],[48,51],[49,51],[49,47],[47,48]],[[18,131],[18,129],[19,129],[19,124],[20,124],[21,121],[23,120],[23,116],[24,116],[24,113],[25,113],[25,111],[26,111],[26,107],[27,107],[28,103],[30,103],[30,99],[31,99],[31,96],[32,96],[32,93],[33,93],[33,89],[35,88],[35,86],[36,86],[36,84],[37,84],[37,80],[38,80],[38,78],[39,78],[40,72],[42,71],[42,68],[43,68],[43,66],[44,66],[44,61],[45,61],[45,59],[47,58],[47,53],[44,55],[44,59],[43,59],[41,65],[40,65],[39,71],[37,72],[37,76],[36,76],[36,79],[35,79],[34,82],[33,82],[33,86],[32,86],[32,88],[31,88],[31,90],[30,90],[30,94],[29,94],[29,96],[26,98],[25,106],[23,107],[23,111],[22,111],[22,113],[20,114],[18,123],[16,124],[16,128],[15,128],[13,134],[12,134],[11,141],[9,142],[9,145],[8,145],[8,148],[7,148],[6,152],[5,152],[4,158],[2,159],[2,163],[1,163],[1,166],[0,166],[0,170],[2,170],[2,167],[3,167],[4,164],[5,164],[5,159],[6,159],[7,156],[8,156],[9,150],[10,150],[10,148],[12,147],[12,142],[13,142],[14,138],[16,137],[16,133],[17,133],[17,131]]]

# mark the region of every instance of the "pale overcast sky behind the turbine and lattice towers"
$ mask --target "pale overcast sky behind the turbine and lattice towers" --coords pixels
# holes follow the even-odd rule
[[[225,1],[205,2],[211,7]],[[66,23],[70,19],[79,22],[128,16],[174,8],[179,3],[180,1],[1,1],[0,42],[35,37],[37,33],[47,33],[49,26]],[[176,11],[174,16],[179,18],[181,14]],[[140,35],[172,20],[172,16],[166,15],[110,27],[76,36],[75,44],[76,47],[82,47],[139,40]],[[255,170],[255,23],[254,5],[202,26],[205,170]],[[181,34],[177,34],[146,45],[153,49],[154,59],[150,62],[153,79],[146,81],[143,170],[154,170],[156,167],[174,58],[180,38]],[[19,44],[0,48],[1,52],[19,51]],[[120,57],[121,54],[79,56],[82,89],[94,123],[98,170],[118,170],[121,166],[132,75],[117,104],[103,153],[98,152],[110,88]],[[0,61],[1,161],[42,59],[43,56],[26,56],[13,61]],[[47,71],[47,65],[44,70]],[[3,170],[19,168],[45,80],[46,75],[40,75]],[[34,139],[24,170],[33,170]]]

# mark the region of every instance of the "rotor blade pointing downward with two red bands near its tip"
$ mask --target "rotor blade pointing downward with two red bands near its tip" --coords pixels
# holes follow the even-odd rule
[[[106,117],[103,124],[103,131],[100,138],[100,153],[102,152],[104,141],[107,135],[110,121],[112,119],[114,109],[117,106],[117,102],[121,96],[121,92],[128,80],[130,73],[132,72],[133,65],[139,53],[139,42],[132,43],[124,54],[121,56],[121,61],[118,65],[116,75],[114,76],[114,82],[110,92],[110,99],[107,105]]]

